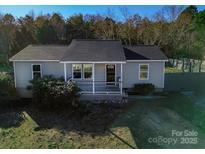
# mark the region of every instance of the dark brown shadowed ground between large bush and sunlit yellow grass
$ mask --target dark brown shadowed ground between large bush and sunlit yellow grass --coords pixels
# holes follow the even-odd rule
[[[29,107],[25,111],[37,123],[36,131],[56,128],[61,131],[105,135],[122,108],[93,104],[86,111],[75,111],[69,107],[49,110]]]

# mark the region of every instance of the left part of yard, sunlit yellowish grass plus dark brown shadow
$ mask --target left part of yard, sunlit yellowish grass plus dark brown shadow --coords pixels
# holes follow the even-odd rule
[[[127,128],[105,128],[116,114],[114,110],[106,114],[107,107],[96,107],[78,118],[69,110],[53,113],[28,108],[0,113],[0,148],[131,148],[124,140],[135,146]]]

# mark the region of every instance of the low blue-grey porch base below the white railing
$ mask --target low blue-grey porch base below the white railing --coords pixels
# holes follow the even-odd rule
[[[127,103],[127,94],[83,94],[81,101],[92,103]]]

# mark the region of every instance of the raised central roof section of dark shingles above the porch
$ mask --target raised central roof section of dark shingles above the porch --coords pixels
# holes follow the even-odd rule
[[[117,40],[73,40],[61,61],[125,61]]]

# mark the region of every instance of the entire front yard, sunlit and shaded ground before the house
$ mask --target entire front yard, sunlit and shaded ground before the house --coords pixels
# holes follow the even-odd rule
[[[204,95],[132,98],[124,107],[93,105],[79,115],[69,109],[31,106],[1,110],[0,148],[205,148]],[[149,143],[172,130],[198,132],[197,144]]]

